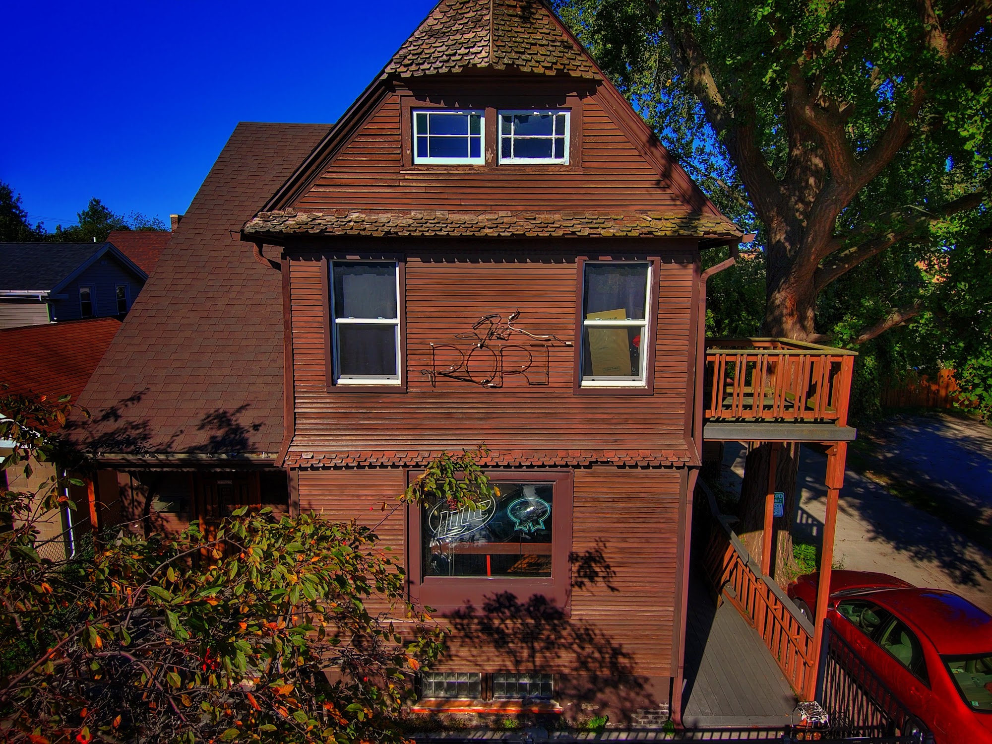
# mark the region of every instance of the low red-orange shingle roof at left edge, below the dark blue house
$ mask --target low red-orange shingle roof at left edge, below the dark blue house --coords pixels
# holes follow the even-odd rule
[[[74,403],[121,326],[116,317],[0,329],[0,383],[10,393],[72,396]]]

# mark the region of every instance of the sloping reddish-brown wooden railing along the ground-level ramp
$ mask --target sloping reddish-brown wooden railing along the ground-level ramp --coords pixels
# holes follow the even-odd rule
[[[701,518],[696,524],[704,533],[694,535],[693,542],[702,547],[703,569],[717,597],[729,601],[758,631],[782,674],[802,698],[810,676],[816,674],[812,625],[779,585],[762,575],[701,481],[693,510]]]

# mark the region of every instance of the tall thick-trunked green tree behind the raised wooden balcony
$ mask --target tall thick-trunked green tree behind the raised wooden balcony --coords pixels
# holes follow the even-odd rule
[[[958,248],[946,226],[987,208],[987,0],[560,0],[558,11],[697,183],[757,228],[762,334],[868,344],[856,392],[870,400],[886,365],[912,356],[885,334],[944,313],[926,267]],[[968,379],[984,353],[968,357]],[[795,455],[780,458],[789,494]],[[767,446],[751,452],[739,516],[754,555],[767,467]],[[791,542],[780,533],[776,575]]]

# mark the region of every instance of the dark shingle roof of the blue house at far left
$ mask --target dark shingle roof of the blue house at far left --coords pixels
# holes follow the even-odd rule
[[[48,292],[106,243],[0,243],[0,291]]]

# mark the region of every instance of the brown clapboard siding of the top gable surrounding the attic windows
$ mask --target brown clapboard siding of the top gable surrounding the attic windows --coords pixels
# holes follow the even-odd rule
[[[329,209],[692,209],[613,122],[596,95],[582,101],[578,169],[559,166],[404,167],[402,105],[387,96],[292,204]],[[409,126],[409,124],[408,124]]]

